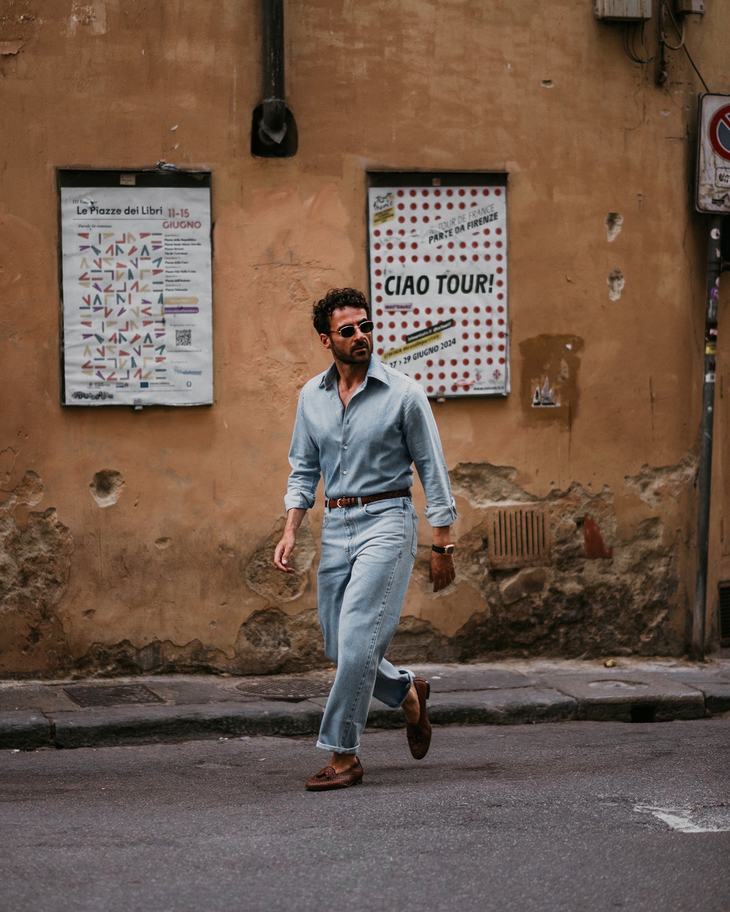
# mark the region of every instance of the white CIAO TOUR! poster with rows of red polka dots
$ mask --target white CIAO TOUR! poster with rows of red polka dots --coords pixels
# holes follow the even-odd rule
[[[368,212],[375,353],[435,399],[505,396],[506,175],[370,174]]]

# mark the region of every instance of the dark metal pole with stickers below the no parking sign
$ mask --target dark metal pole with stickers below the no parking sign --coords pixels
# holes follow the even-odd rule
[[[707,604],[707,558],[710,540],[710,492],[712,487],[714,374],[717,350],[717,295],[722,269],[720,232],[722,216],[710,218],[707,244],[707,291],[704,307],[704,380],[702,388],[702,441],[697,476],[697,577],[694,586],[692,628],[693,658],[704,660]]]

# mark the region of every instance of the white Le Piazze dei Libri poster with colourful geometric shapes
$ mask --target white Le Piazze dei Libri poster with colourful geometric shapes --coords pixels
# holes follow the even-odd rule
[[[59,183],[64,404],[212,403],[210,175]]]

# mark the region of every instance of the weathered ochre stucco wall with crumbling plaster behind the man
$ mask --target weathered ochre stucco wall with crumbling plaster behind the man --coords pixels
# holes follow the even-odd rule
[[[687,24],[715,91],[728,24],[717,3]],[[423,521],[393,655],[682,653],[706,244],[689,202],[686,59],[672,55],[657,88],[588,2],[288,4],[299,149],[285,161],[250,155],[259,59],[254,0],[5,4],[0,675],[324,661],[321,502],[297,581],[266,555],[297,391],[328,363],[309,308],[331,286],[367,287],[369,169],[509,172],[512,393],[434,405],[460,577],[428,591]],[[56,169],[161,159],[213,172],[215,404],[62,408]],[[623,217],[612,242],[609,212]],[[538,413],[546,370],[562,372],[564,405]],[[102,471],[124,482],[105,508],[89,492]],[[551,510],[552,564],[489,572],[485,510],[536,500]],[[612,557],[586,557],[586,517]],[[730,575],[720,518],[711,594]]]

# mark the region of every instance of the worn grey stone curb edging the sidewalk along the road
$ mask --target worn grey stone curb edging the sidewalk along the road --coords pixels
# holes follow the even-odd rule
[[[615,674],[615,673],[614,673]],[[586,675],[540,675],[530,686],[501,689],[432,690],[429,719],[434,725],[525,725],[570,720],[649,721],[631,708],[654,707],[656,722],[700,719],[730,710],[730,683],[692,683],[633,675],[647,681],[645,693],[596,695]],[[588,676],[590,677],[590,676]],[[625,677],[625,674],[624,674]],[[551,686],[552,685],[552,686]],[[120,744],[175,743],[252,735],[316,735],[325,699],[282,703],[273,700],[187,705],[134,705],[86,710],[0,711],[0,749],[79,748]],[[401,729],[401,710],[374,702],[370,729]]]

